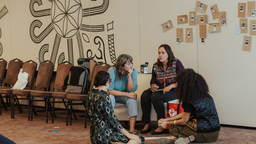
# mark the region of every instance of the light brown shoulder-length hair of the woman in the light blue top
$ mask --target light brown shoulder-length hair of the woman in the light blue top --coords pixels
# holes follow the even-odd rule
[[[126,55],[126,54],[122,54],[119,55],[117,58],[117,62],[114,64],[114,67],[116,67],[117,70],[117,74],[119,77],[119,80],[122,81],[123,80],[123,74],[124,74],[124,65],[127,62],[132,62],[132,57],[130,55]]]

